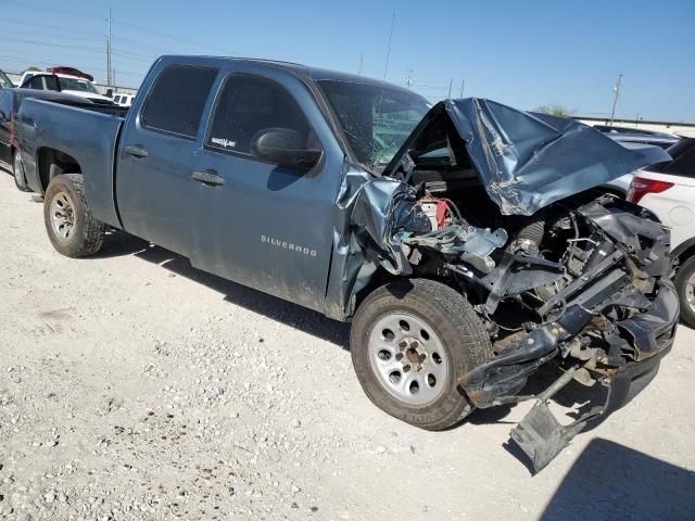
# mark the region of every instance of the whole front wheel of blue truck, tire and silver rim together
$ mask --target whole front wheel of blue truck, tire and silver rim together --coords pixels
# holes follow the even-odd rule
[[[432,431],[471,412],[456,380],[493,357],[472,306],[452,288],[427,279],[399,280],[367,296],[355,314],[350,348],[369,399]]]

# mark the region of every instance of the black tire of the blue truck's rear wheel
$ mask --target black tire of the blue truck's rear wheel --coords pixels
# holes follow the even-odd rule
[[[52,224],[52,204],[64,196],[73,206],[67,237],[62,237]],[[51,179],[43,196],[43,223],[53,247],[67,257],[93,255],[103,244],[105,227],[89,212],[81,174],[62,174]]]

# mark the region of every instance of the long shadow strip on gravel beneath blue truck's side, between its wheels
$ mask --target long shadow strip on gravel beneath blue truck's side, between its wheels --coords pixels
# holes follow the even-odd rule
[[[296,304],[247,288],[222,277],[217,277],[191,266],[188,258],[174,252],[155,246],[148,241],[121,231],[106,233],[104,246],[91,258],[118,257],[134,255],[157,264],[170,272],[186,277],[222,293],[225,301],[251,312],[278,320],[313,336],[348,350],[350,325],[331,320],[324,315]]]

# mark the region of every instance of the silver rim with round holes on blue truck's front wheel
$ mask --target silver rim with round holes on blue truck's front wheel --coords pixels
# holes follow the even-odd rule
[[[446,352],[432,327],[414,315],[383,315],[371,329],[368,352],[379,382],[401,402],[427,405],[446,389]]]

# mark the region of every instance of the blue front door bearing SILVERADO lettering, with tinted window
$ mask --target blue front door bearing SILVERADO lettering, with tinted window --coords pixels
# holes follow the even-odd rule
[[[281,74],[274,79],[239,68],[224,79],[198,157],[197,169],[216,182],[200,185],[193,263],[323,310],[340,167],[326,161],[308,170],[278,166],[250,150],[254,136],[269,128],[294,130],[307,148],[326,150],[315,132],[325,122],[306,115],[309,100],[299,80]]]

